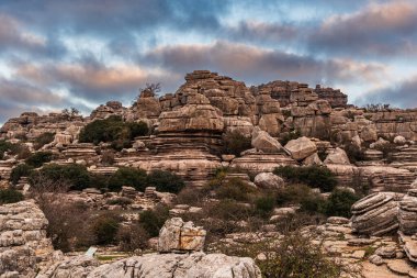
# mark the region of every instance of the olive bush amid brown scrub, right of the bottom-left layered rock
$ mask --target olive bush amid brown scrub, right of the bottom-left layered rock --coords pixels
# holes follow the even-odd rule
[[[92,231],[98,244],[114,243],[120,226],[120,220],[113,214],[100,215],[93,220]]]

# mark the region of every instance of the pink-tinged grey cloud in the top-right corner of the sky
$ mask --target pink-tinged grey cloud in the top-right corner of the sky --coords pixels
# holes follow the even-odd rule
[[[312,51],[372,57],[417,54],[417,5],[398,0],[371,3],[362,10],[326,19],[314,31]]]

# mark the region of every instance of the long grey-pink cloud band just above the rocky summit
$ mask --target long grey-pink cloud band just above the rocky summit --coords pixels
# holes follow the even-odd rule
[[[158,47],[143,56],[140,62],[177,73],[211,69],[251,84],[275,79],[313,84],[323,80],[369,81],[377,79],[385,69],[379,64],[347,59],[319,60],[229,42]]]

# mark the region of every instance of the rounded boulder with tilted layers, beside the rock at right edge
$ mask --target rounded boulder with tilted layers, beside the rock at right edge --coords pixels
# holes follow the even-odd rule
[[[398,229],[398,202],[394,192],[370,194],[356,202],[352,210],[352,230],[356,233],[379,236]]]

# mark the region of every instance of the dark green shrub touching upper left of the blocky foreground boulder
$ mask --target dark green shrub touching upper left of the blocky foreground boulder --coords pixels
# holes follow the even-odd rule
[[[154,210],[142,212],[139,223],[150,236],[158,236],[159,230],[164,226],[168,218],[168,208],[157,205]]]

